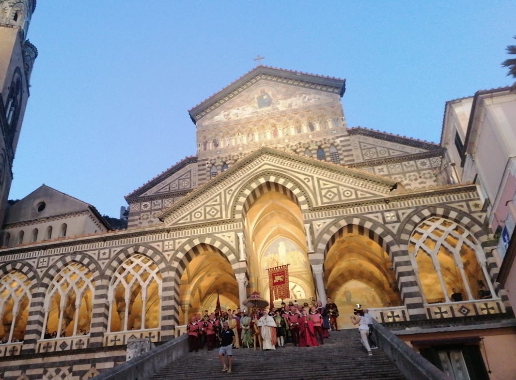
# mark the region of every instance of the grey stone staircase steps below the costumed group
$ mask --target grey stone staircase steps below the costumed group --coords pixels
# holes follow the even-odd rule
[[[222,372],[218,349],[188,353],[170,363],[151,379],[211,380],[407,380],[381,349],[367,356],[357,329],[330,332],[325,344],[295,347],[286,344],[276,351],[233,350],[233,372]]]

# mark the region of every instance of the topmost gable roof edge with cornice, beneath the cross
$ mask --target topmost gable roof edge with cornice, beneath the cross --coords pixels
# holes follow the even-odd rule
[[[224,87],[219,92],[216,92],[212,96],[209,96],[204,101],[199,103],[197,106],[192,107],[188,110],[190,119],[193,124],[197,124],[197,120],[203,117],[205,114],[218,108],[225,102],[231,100],[234,95],[244,90],[242,88],[248,81],[252,80],[256,76],[265,75],[265,79],[277,80],[278,78],[284,78],[286,83],[294,86],[302,86],[312,88],[315,87],[320,91],[327,91],[331,93],[338,93],[340,97],[344,95],[346,91],[346,79],[340,79],[329,76],[315,75],[309,73],[303,73],[299,71],[278,69],[269,66],[259,65],[244,74],[227,87]],[[248,86],[246,86],[247,88]]]

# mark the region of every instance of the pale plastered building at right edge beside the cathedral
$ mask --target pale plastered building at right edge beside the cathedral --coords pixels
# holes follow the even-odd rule
[[[501,264],[498,282],[516,304],[516,93],[510,87],[478,91],[446,103],[442,145],[446,175],[478,186]]]

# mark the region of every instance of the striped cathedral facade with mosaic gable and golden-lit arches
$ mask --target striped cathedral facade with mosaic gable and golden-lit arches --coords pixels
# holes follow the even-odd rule
[[[281,265],[290,293],[275,304],[329,296],[344,328],[360,304],[416,350],[516,371],[499,355],[516,333],[477,185],[441,145],[349,128],[344,92],[344,79],[260,65],[189,111],[196,154],[126,196],[126,230],[3,246],[0,378],[90,378],[217,298],[268,299]]]

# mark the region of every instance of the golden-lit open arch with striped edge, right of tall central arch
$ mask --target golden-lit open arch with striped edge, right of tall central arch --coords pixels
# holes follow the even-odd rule
[[[322,236],[318,251],[324,252],[320,259],[324,259],[327,295],[340,300],[339,310],[352,312],[356,303],[369,307],[404,303],[394,272],[396,244],[380,223],[346,218],[327,226]],[[344,294],[345,300],[337,294]]]

